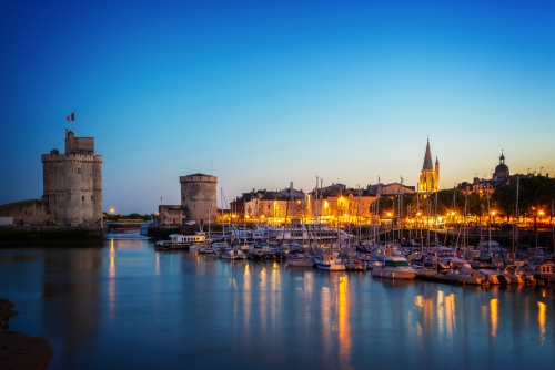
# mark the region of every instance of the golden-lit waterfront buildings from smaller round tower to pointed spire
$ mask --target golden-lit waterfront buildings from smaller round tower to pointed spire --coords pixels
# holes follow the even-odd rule
[[[311,192],[294,189],[293,184],[282,191],[252,189],[231,202],[229,209],[218,209],[215,176],[195,174],[180,177],[181,204],[160,205],[161,226],[195,222],[269,223],[274,225],[302,223],[360,223],[375,213],[372,205],[381,195],[402,195],[421,192],[430,194],[440,188],[440,162],[432,160],[430,141],[416,186],[402,183],[373,184],[365,188],[349,188],[344,184],[322,184]]]

